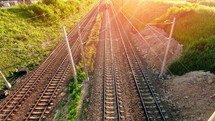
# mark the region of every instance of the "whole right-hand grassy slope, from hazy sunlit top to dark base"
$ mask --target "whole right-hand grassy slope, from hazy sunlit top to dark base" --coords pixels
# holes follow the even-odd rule
[[[177,18],[173,36],[184,44],[185,51],[169,68],[173,73],[181,75],[193,70],[215,72],[215,8],[209,6],[169,1],[145,2],[138,10],[141,11],[139,15],[134,14],[134,8],[133,11],[126,9],[126,13],[135,15],[143,23]],[[144,27],[143,24],[136,24],[137,20],[131,20],[139,29]],[[158,27],[167,32],[170,29],[167,25]]]

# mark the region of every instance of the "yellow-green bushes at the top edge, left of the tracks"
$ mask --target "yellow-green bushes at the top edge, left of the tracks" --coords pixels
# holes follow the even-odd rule
[[[74,3],[74,4],[72,4]],[[20,4],[19,7],[29,17],[42,19],[43,21],[58,20],[67,17],[71,12],[78,9],[78,2],[63,2],[60,0],[43,0],[37,4]]]

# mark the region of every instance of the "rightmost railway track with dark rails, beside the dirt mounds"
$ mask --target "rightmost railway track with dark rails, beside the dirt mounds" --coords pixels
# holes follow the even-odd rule
[[[129,41],[129,37],[127,36],[123,25],[116,15],[116,11],[113,10],[112,13],[113,16],[115,16],[114,18],[122,40],[124,51],[127,56],[128,65],[136,85],[137,93],[140,97],[141,105],[144,111],[143,119],[147,121],[166,121],[168,117],[164,115],[165,111],[162,109],[163,106],[160,104],[157,93],[155,93],[155,90],[150,83],[142,62],[136,54],[133,45]]]

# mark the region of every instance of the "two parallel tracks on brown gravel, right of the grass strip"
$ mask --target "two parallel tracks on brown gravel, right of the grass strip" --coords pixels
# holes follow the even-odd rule
[[[103,54],[97,57],[102,63],[96,67],[98,71],[102,69],[102,74],[96,69],[96,113],[92,113],[91,120],[166,121],[157,93],[116,11],[110,6],[103,14],[98,48]]]

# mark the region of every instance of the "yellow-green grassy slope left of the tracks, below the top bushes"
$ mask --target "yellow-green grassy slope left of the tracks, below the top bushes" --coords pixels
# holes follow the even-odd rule
[[[95,1],[84,1],[81,14],[76,10],[64,19],[49,22],[32,19],[20,8],[0,9],[0,69],[7,77],[20,67],[33,69],[62,39],[61,26],[70,30],[93,4]],[[1,80],[0,85],[1,89]]]

